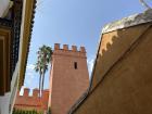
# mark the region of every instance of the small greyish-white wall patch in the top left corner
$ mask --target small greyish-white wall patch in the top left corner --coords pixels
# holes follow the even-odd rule
[[[10,0],[0,0],[0,17],[9,8]]]

